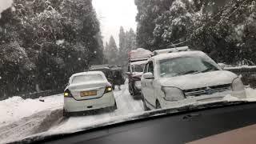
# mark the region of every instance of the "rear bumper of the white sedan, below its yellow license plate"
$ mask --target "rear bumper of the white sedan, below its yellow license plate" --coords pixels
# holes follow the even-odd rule
[[[64,110],[66,112],[79,112],[86,110],[97,110],[115,105],[113,92],[104,94],[101,98],[75,100],[64,98]]]

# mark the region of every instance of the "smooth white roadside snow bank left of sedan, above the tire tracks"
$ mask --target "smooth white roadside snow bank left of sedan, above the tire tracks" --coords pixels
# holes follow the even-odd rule
[[[55,110],[59,106],[63,106],[62,94],[43,99],[45,102],[40,102],[39,98],[22,99],[21,97],[12,97],[0,101],[0,125],[10,124],[42,110]]]

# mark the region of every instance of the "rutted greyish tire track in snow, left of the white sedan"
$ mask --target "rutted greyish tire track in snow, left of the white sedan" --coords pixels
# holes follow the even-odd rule
[[[33,134],[45,132],[62,121],[62,109],[44,110],[18,122],[0,127],[0,143],[14,142]]]

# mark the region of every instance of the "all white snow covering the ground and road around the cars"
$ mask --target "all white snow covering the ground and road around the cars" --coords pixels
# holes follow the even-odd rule
[[[256,90],[247,88],[248,98],[255,101]],[[80,130],[109,121],[122,121],[143,111],[142,101],[130,96],[126,85],[114,90],[118,110],[86,116],[62,117],[63,96],[38,99],[13,97],[0,101],[0,143],[13,142],[33,134],[56,134]]]

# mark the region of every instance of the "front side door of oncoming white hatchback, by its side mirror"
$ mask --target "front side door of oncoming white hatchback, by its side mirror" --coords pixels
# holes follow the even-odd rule
[[[150,61],[148,62],[148,68],[147,68],[147,73],[150,72],[154,74],[154,65],[153,62]],[[153,82],[154,79],[144,79],[145,82],[145,96],[144,98],[146,99],[147,102],[150,103],[151,106],[154,106],[154,87],[153,87]]]

